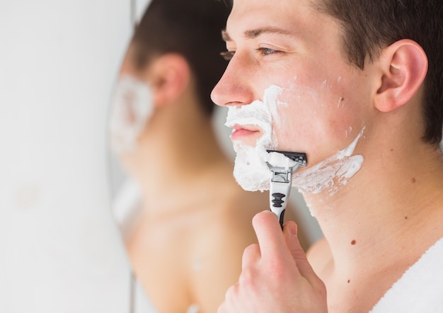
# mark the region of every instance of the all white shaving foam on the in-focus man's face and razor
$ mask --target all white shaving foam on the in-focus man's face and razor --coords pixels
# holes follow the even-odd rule
[[[257,140],[255,147],[239,140],[233,142],[236,152],[234,177],[245,190],[264,191],[270,189],[270,170],[266,162],[273,166],[285,166],[291,164],[289,162],[294,162],[283,154],[266,152],[267,149],[277,148],[277,138],[272,125],[280,123],[277,108],[287,106],[286,103],[278,101],[282,91],[283,89],[279,86],[270,86],[265,90],[263,102],[253,101],[250,105],[229,107],[226,126],[257,125],[263,130],[263,137]],[[347,135],[351,131],[352,127],[348,130]],[[326,190],[330,196],[337,193],[340,186],[345,186],[362,167],[364,157],[352,154],[363,132],[364,127],[348,147],[340,150],[333,157],[329,157],[309,169],[294,173],[292,186],[298,188],[301,193],[316,194]]]

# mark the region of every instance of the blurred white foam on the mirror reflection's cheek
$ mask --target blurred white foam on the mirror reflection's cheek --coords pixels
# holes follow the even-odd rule
[[[119,79],[110,113],[110,144],[115,153],[130,152],[137,147],[137,138],[153,109],[149,86],[132,76]]]

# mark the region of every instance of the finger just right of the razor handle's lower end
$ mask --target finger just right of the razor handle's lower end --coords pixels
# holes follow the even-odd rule
[[[300,274],[309,280],[310,283],[314,283],[315,280],[318,280],[318,276],[308,262],[303,248],[301,248],[299,239],[297,238],[297,224],[295,224],[294,221],[286,222],[283,227],[283,234],[287,248],[291,251],[292,258],[294,258]]]

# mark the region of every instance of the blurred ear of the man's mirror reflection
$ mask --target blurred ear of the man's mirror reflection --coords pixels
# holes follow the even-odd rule
[[[149,67],[149,82],[155,106],[172,103],[190,83],[190,67],[184,57],[169,53],[157,57]]]

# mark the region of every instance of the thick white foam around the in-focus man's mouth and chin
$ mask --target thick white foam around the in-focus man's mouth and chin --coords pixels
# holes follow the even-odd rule
[[[272,124],[280,120],[277,106],[285,105],[277,101],[282,90],[279,86],[270,86],[265,90],[263,102],[254,101],[240,107],[229,107],[226,126],[257,125],[263,131],[263,136],[257,140],[255,147],[243,144],[240,140],[233,142],[236,152],[234,177],[244,190],[263,191],[270,188],[270,171],[266,165],[270,154],[266,150],[277,147],[277,138]]]

